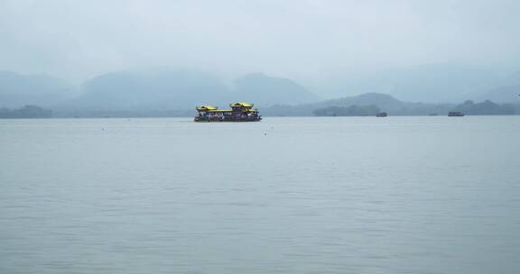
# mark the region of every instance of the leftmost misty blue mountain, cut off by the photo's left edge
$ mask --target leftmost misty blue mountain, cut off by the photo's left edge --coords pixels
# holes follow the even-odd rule
[[[53,106],[71,96],[73,87],[60,78],[0,71],[0,107]]]

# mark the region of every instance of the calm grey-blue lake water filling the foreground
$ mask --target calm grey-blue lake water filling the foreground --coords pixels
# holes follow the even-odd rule
[[[520,273],[520,116],[0,121],[0,273]]]

